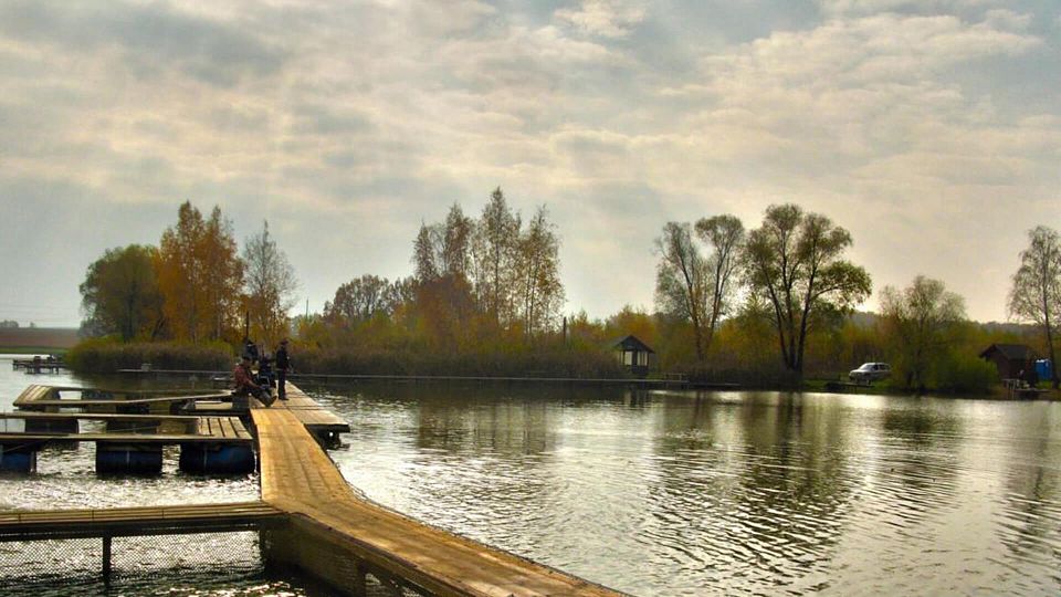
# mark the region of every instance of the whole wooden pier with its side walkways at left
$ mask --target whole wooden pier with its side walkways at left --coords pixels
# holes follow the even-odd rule
[[[46,404],[44,392],[28,404]],[[122,533],[175,534],[256,528],[266,566],[292,568],[344,595],[365,595],[369,577],[395,595],[491,597],[611,596],[611,589],[517,555],[426,525],[358,496],[322,444],[348,423],[293,384],[286,401],[264,408],[251,400],[256,433],[261,503],[161,509],[0,512],[0,541],[104,537],[103,570],[109,572],[109,538]],[[44,402],[42,402],[44,400]],[[66,402],[69,400],[63,400]],[[76,413],[75,413],[76,415]],[[55,413],[33,413],[27,420]],[[87,415],[105,421],[187,425],[166,416]],[[158,421],[155,423],[154,421]],[[234,421],[231,421],[234,429]],[[225,436],[223,418],[198,422],[197,434]],[[203,431],[206,430],[206,433]],[[106,433],[112,436],[111,433]],[[130,433],[147,441],[162,436]],[[54,439],[57,434],[45,434]],[[82,440],[92,434],[82,433]],[[2,437],[2,436],[0,436]],[[266,524],[267,523],[267,524]]]

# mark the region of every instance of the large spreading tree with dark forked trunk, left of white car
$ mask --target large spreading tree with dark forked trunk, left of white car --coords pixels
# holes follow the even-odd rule
[[[851,234],[799,206],[770,206],[744,251],[750,291],[769,305],[785,368],[802,374],[807,336],[829,315],[848,312],[871,292],[864,269],[844,261]]]

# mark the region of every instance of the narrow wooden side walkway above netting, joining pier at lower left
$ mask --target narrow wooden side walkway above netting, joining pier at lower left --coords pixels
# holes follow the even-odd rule
[[[0,512],[0,542],[256,530],[284,513],[263,502]]]

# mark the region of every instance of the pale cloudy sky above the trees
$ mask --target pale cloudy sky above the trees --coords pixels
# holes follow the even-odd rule
[[[1061,228],[1059,0],[0,2],[0,320],[74,326],[108,248],[190,200],[269,221],[318,312],[412,272],[501,187],[560,238],[565,311],[651,310],[654,239],[796,202],[878,291],[1005,321]]]

